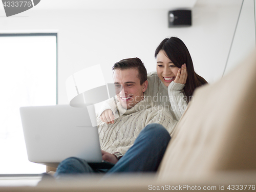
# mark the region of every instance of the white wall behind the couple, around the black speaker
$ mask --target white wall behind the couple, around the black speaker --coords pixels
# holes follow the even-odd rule
[[[64,104],[68,103],[65,81],[73,73],[100,64],[105,81],[112,82],[113,64],[135,56],[153,71],[155,49],[170,36],[187,45],[199,75],[210,83],[216,81],[224,70],[239,10],[237,5],[196,5],[192,27],[168,28],[168,9],[47,11],[35,7],[16,16],[1,16],[0,32],[58,32],[58,103]],[[4,10],[0,15],[5,15]]]

